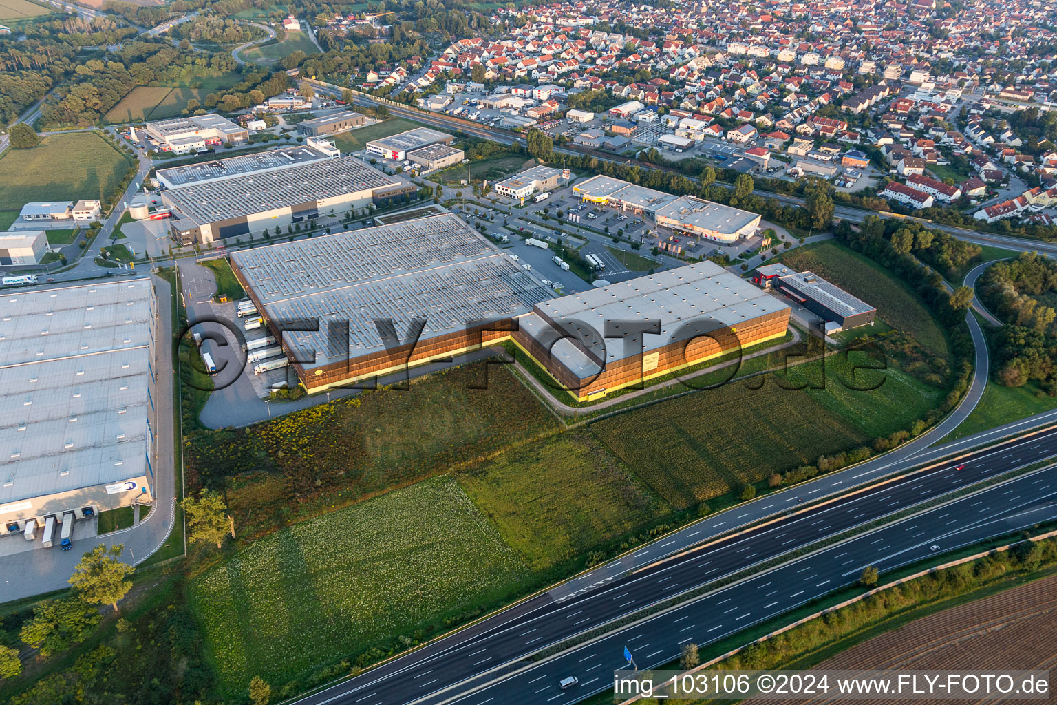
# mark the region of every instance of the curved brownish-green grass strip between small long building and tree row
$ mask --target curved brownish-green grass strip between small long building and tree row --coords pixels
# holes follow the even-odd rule
[[[880,266],[835,242],[818,242],[779,256],[797,271],[811,270],[877,308],[877,314],[937,355],[947,354],[947,340],[912,291]]]

